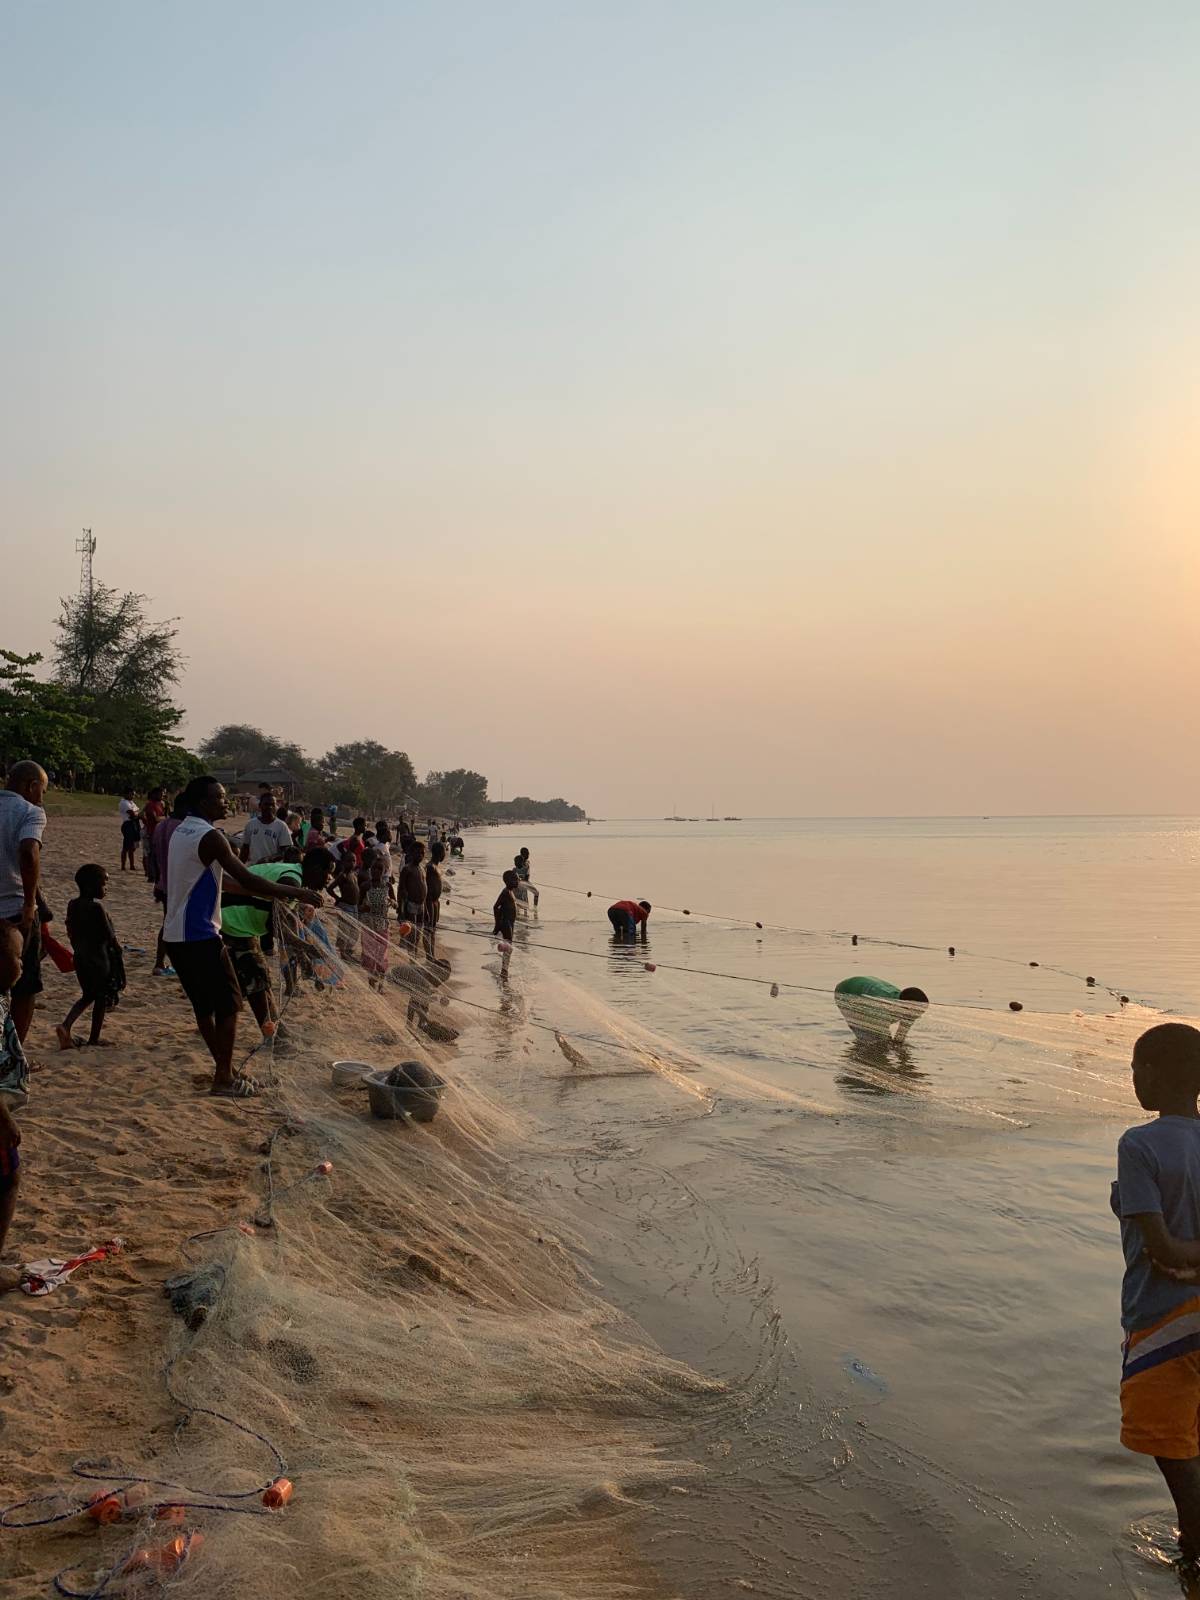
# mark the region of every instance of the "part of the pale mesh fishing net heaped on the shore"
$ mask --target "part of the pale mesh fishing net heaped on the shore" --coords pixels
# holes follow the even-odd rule
[[[139,1450],[74,1475],[64,1461],[61,1485],[24,1485],[30,1502],[6,1514],[27,1530],[5,1534],[26,1541],[26,1573],[58,1568],[59,1592],[163,1576],[205,1595],[646,1592],[614,1526],[696,1470],[666,1446],[720,1384],[597,1293],[514,1166],[522,1117],[502,1078],[456,1045],[448,963],[395,928],[390,944],[386,978],[341,914],[290,946],[294,994],[246,1064],[274,1083],[245,1107],[251,1194],[227,1227],[181,1242],[170,1277],[150,1389],[165,1414]],[[408,1083],[416,1066],[424,1086],[373,1117],[379,1085],[354,1066],[333,1082],[350,1059],[405,1062]],[[272,1510],[278,1480],[294,1499]],[[122,1520],[94,1525],[96,1493]],[[168,1536],[192,1539],[182,1563]]]

